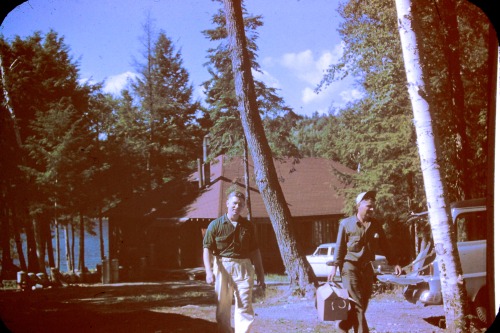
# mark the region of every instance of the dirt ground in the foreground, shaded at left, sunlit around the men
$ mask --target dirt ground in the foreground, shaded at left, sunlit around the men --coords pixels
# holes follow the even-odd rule
[[[313,300],[286,297],[270,286],[255,302],[254,332],[335,332],[321,322]],[[212,288],[202,281],[66,287],[0,292],[0,318],[22,332],[216,332]],[[442,306],[410,304],[396,295],[376,297],[367,319],[372,332],[443,332]]]

